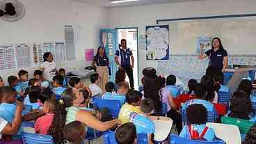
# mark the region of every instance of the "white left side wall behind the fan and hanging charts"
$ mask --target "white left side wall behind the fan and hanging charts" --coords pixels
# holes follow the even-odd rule
[[[58,67],[64,65],[67,69],[80,69],[88,65],[84,62],[84,49],[98,47],[99,29],[108,26],[109,10],[72,0],[20,1],[26,7],[26,15],[18,22],[5,22],[0,19],[0,45],[19,42],[64,42],[64,26],[72,25],[76,61],[58,63]],[[32,77],[35,67],[23,69],[29,70]],[[7,79],[8,75],[17,72],[18,70],[2,70],[0,76]]]

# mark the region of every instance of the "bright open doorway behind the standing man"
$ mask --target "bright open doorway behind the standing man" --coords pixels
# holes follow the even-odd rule
[[[138,28],[118,28],[118,44],[122,39],[127,40],[127,47],[134,56],[134,89],[138,90]],[[125,81],[129,81],[126,77]]]

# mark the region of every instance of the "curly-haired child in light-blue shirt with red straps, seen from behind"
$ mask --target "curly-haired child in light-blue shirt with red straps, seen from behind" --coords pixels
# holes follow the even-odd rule
[[[214,141],[214,129],[207,127],[207,110],[202,104],[191,104],[186,109],[186,117],[188,124],[182,129],[179,134],[182,138],[188,138],[198,141]]]

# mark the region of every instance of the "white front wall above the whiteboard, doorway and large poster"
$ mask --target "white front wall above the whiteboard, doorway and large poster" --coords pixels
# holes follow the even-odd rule
[[[255,0],[206,0],[184,3],[168,3],[110,10],[111,27],[138,27],[139,35],[145,35],[145,26],[156,24],[157,19],[203,17],[212,15],[236,15],[255,13]],[[175,49],[173,49],[175,50]],[[156,61],[145,60],[145,50],[139,50],[139,73],[144,67],[157,67]]]

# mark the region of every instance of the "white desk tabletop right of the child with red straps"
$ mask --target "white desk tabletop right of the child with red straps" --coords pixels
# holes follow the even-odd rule
[[[216,136],[225,141],[226,144],[241,144],[241,134],[236,125],[213,122],[208,122],[206,125],[214,129]]]

